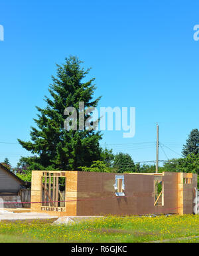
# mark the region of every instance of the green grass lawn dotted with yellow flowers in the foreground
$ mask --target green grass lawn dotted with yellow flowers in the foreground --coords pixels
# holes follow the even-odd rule
[[[198,236],[198,237],[197,237]],[[187,238],[186,238],[187,237]],[[72,225],[0,222],[0,242],[199,242],[199,215],[107,216]]]

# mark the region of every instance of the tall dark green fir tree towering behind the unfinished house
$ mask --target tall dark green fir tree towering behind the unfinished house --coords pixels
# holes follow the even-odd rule
[[[21,158],[23,166],[31,170],[76,170],[78,166],[90,166],[93,161],[101,160],[100,132],[94,130],[65,130],[64,110],[74,107],[78,110],[79,102],[85,108],[96,107],[101,97],[93,98],[96,89],[95,78],[85,82],[90,68],[82,68],[82,61],[77,57],[65,59],[57,64],[56,77],[49,86],[50,98],[45,96],[46,108],[36,107],[39,114],[34,122],[38,128],[31,127],[31,140],[19,140],[23,148],[35,156]],[[84,82],[83,82],[84,80]],[[90,117],[84,113],[85,120]]]

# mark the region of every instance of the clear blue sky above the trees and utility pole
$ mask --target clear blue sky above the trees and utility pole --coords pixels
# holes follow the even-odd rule
[[[29,155],[13,143],[30,139],[35,106],[45,106],[55,63],[69,55],[92,66],[100,106],[136,107],[135,137],[103,132],[101,144],[135,162],[155,160],[159,122],[160,142],[181,154],[199,124],[198,10],[196,0],[1,1],[0,142],[11,144],[0,143],[0,162],[7,157],[15,166]],[[168,158],[179,156],[168,148]]]

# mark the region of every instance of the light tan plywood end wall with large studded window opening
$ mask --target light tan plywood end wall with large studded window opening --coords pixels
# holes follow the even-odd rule
[[[56,192],[56,177],[50,178],[51,189],[49,190],[49,180],[46,180],[45,177],[48,177],[49,174],[56,177],[65,177],[66,178],[66,188],[64,199],[66,207],[65,211],[62,211],[63,207],[58,207],[57,203],[39,203],[42,201],[58,201]],[[46,212],[50,215],[76,215],[76,204],[77,204],[77,176],[78,172],[58,172],[58,171],[32,171],[32,186],[31,186],[31,211],[36,212]],[[44,193],[47,190],[47,193]],[[49,192],[50,191],[50,192]],[[44,210],[45,209],[45,210]],[[67,213],[66,213],[67,209]]]

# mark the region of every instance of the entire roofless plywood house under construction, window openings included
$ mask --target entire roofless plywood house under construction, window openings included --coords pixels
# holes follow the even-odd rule
[[[197,174],[33,171],[31,211],[59,216],[193,213]]]

